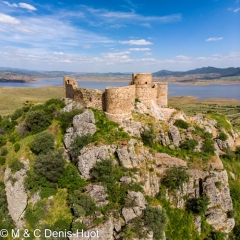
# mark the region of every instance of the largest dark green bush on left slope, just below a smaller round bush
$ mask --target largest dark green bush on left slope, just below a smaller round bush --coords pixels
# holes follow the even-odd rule
[[[64,170],[65,160],[62,151],[49,151],[34,159],[33,168],[37,174],[46,177],[50,182],[57,183]]]

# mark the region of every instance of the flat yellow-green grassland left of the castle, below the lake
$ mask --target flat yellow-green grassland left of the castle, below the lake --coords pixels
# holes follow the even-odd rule
[[[26,101],[43,103],[50,98],[64,97],[63,87],[3,88],[0,87],[0,115],[21,108]]]

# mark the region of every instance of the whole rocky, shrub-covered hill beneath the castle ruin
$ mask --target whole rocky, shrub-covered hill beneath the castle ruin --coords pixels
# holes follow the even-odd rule
[[[136,100],[118,124],[50,99],[1,117],[0,130],[6,229],[98,229],[101,240],[239,237],[239,132],[223,114]]]

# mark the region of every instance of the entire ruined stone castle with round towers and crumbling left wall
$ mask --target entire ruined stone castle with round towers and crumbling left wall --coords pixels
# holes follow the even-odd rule
[[[152,82],[152,74],[132,74],[132,81],[123,87],[107,87],[105,91],[78,88],[77,82],[64,77],[65,97],[71,98],[84,107],[103,110],[108,119],[119,122],[131,118],[135,99],[147,107],[154,101],[162,108],[168,105],[168,85],[165,82]]]

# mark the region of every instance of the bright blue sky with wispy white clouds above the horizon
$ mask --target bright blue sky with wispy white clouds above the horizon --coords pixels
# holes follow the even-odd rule
[[[54,71],[240,67],[240,0],[0,0],[0,56]]]

